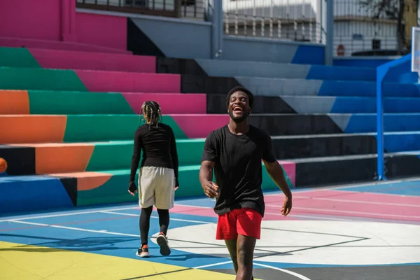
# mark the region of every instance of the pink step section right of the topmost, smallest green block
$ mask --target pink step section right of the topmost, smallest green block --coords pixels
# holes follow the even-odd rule
[[[156,57],[152,56],[39,48],[28,50],[43,68],[156,72]]]

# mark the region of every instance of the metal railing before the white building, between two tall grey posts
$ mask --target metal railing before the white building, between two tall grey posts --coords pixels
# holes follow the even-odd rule
[[[325,43],[316,0],[225,0],[225,34]]]

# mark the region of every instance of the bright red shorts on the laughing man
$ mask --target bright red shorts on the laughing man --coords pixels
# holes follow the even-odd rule
[[[260,239],[261,221],[261,214],[253,209],[234,209],[218,216],[216,239],[235,239],[238,235]]]

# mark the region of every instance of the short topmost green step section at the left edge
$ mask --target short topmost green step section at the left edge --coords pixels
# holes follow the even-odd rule
[[[26,48],[0,48],[0,66],[41,68]]]

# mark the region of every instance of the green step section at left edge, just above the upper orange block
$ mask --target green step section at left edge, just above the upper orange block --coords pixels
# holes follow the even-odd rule
[[[0,67],[0,89],[87,91],[72,70],[13,67]]]

